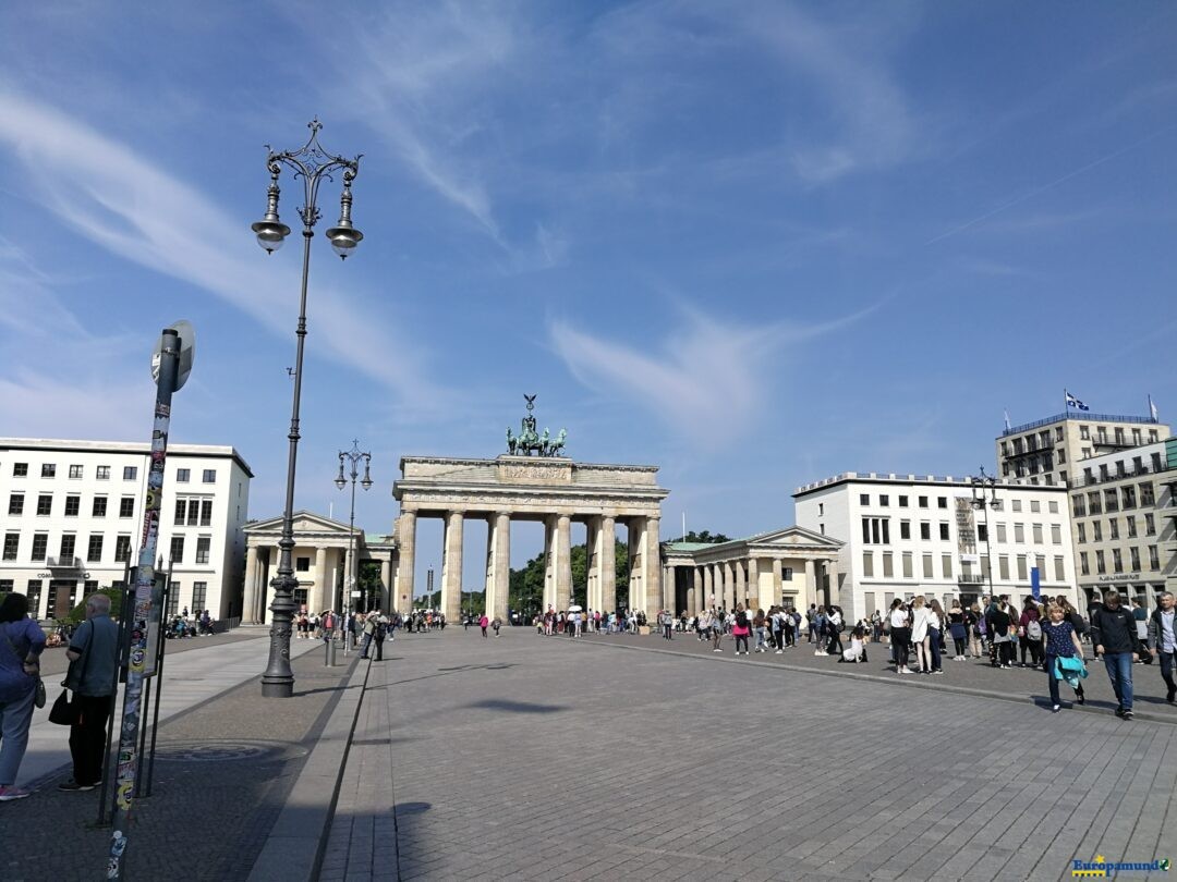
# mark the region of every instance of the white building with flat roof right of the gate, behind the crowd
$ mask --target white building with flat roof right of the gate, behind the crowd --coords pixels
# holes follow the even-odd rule
[[[916,594],[1020,604],[1036,567],[1043,596],[1078,602],[1066,488],[998,482],[996,499],[976,507],[967,479],[856,472],[793,494],[799,527],[844,542],[836,594],[852,621]]]

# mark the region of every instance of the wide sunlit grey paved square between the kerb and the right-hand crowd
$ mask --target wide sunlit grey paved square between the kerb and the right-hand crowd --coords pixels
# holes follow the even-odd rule
[[[1055,880],[1177,851],[1177,726],[626,640],[660,648],[398,639],[321,877]]]

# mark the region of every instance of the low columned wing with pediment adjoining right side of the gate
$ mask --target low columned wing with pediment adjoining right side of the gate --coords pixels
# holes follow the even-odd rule
[[[764,610],[839,603],[842,544],[802,527],[730,542],[665,542],[666,608],[696,615],[703,609],[734,609],[737,603]]]

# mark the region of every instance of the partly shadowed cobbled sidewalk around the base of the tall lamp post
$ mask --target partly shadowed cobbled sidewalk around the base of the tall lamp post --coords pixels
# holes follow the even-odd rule
[[[319,653],[306,653],[291,662],[292,699],[260,699],[254,677],[162,723],[151,796],[134,806],[125,878],[248,876],[351,663],[340,657],[327,669]],[[104,877],[111,828],[95,824],[99,793],[59,793],[47,783],[27,800],[0,804],[7,834],[0,878]]]

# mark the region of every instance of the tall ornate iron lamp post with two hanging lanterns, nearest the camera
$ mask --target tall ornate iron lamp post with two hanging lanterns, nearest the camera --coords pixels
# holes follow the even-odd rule
[[[333,180],[332,173],[343,172],[344,191],[339,198],[339,223],[327,230],[327,239],[335,254],[346,259],[355,250],[364,234],[352,226],[352,181],[359,173],[360,156],[344,159],[327,153],[319,145],[319,120],[307,123],[311,138],[297,151],[274,152],[268,145],[266,149],[266,167],[270,169],[270,188],[266,191],[266,215],[252,226],[260,245],[267,254],[278,250],[291,228],[278,218],[278,178],[282,166],[294,172],[294,178],[302,180],[305,201],[298,209],[302,219],[302,286],[299,295],[299,315],[295,336],[298,340],[294,355],[294,403],[291,408],[290,455],[286,465],[286,508],[282,512],[282,536],[278,541],[281,555],[278,562],[278,574],[270,586],[274,589],[274,600],[270,604],[273,613],[273,624],[270,628],[270,663],[261,675],[261,695],[267,699],[288,699],[294,694],[294,673],[291,670],[291,623],[294,620],[294,589],[298,579],[294,576],[292,555],[294,550],[294,472],[298,460],[299,440],[299,400],[302,394],[302,347],[306,341],[306,285],[311,268],[311,239],[314,225],[322,216],[317,205],[319,185],[324,180]]]

